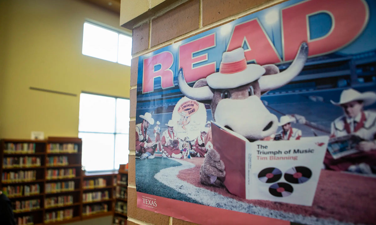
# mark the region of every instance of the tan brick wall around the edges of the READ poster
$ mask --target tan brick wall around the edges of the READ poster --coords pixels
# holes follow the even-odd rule
[[[129,123],[129,225],[195,224],[136,207],[135,135],[132,135],[132,132],[135,132],[138,56],[171,45],[282,1],[285,0],[178,0],[149,18],[139,21],[133,27]]]

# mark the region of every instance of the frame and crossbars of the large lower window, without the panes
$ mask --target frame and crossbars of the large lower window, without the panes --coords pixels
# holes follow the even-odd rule
[[[112,132],[92,132],[92,131],[80,131],[78,129],[78,133],[102,133],[102,134],[112,134],[114,135],[114,160],[113,160],[113,165],[114,165],[114,169],[105,169],[105,170],[92,170],[92,171],[85,171],[86,173],[96,173],[96,172],[116,172],[118,171],[118,169],[115,169],[115,148],[116,148],[116,135],[117,134],[127,134],[128,135],[128,139],[129,139],[129,130],[128,130],[128,133],[117,133],[116,132],[116,109],[117,109],[117,99],[126,99],[126,100],[129,100],[129,108],[130,108],[130,99],[129,98],[123,98],[123,97],[119,97],[119,96],[113,96],[113,95],[103,95],[103,94],[98,94],[98,93],[93,93],[93,92],[81,92],[80,94],[89,94],[89,95],[97,95],[97,96],[104,96],[104,97],[109,97],[109,98],[115,98],[115,126],[114,126],[114,133]],[[81,99],[80,99],[81,101]],[[129,150],[129,146],[128,146],[128,150]],[[129,160],[128,160],[129,162]],[[82,156],[81,156],[81,165],[82,165]]]

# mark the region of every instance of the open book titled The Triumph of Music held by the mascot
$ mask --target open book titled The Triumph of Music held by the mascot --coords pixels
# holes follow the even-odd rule
[[[328,136],[255,141],[212,122],[213,148],[224,162],[223,183],[233,195],[312,205]]]

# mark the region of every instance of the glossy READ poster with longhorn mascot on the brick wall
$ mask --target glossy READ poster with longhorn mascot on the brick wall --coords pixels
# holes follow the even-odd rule
[[[376,2],[290,0],[138,58],[137,207],[376,224]]]

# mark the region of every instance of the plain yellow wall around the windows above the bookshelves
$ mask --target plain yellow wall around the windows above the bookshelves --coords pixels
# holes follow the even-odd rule
[[[129,98],[129,66],[81,53],[86,18],[130,32],[118,14],[81,0],[0,0],[0,14],[0,138],[77,136],[82,91]]]

